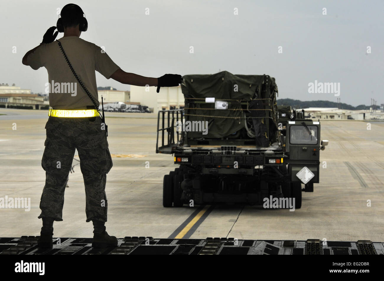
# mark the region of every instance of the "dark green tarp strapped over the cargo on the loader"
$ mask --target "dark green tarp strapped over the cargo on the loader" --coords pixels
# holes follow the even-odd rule
[[[266,75],[232,74],[222,71],[216,74],[192,74],[183,76],[181,84],[185,98],[185,117],[188,121],[208,121],[208,134],[188,132],[192,138],[221,138],[236,133],[245,127],[242,110],[216,109],[214,103],[205,103],[205,98],[227,101],[229,109],[241,109],[239,100],[251,101],[255,93],[261,93]],[[277,93],[275,79],[271,78],[270,92]],[[268,97],[270,98],[270,97]],[[231,101],[233,100],[233,101]],[[275,98],[274,98],[275,100]],[[265,116],[265,111],[260,111]],[[248,112],[249,113],[249,112]]]

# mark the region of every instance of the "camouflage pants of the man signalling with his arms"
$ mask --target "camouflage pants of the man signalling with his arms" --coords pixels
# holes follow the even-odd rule
[[[85,185],[86,221],[107,221],[106,174],[113,164],[101,123],[100,117],[49,117],[41,159],[46,177],[38,218],[63,220],[65,183],[77,149]]]

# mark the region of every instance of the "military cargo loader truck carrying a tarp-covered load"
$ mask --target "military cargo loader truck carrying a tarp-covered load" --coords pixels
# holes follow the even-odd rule
[[[268,75],[227,71],[185,75],[184,109],[162,110],[156,153],[173,155],[164,175],[163,206],[246,203],[295,198],[319,183],[320,122],[303,110],[277,106]]]

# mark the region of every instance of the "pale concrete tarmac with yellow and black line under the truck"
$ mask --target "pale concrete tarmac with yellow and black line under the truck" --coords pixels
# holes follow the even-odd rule
[[[28,212],[0,208],[0,237],[36,236],[41,228],[37,217],[45,183],[41,157],[48,111],[1,108],[0,114],[7,114],[0,115],[0,198],[31,200]],[[301,209],[289,212],[247,205],[162,207],[163,175],[175,165],[171,155],[155,153],[157,115],[106,116],[113,156],[106,185],[110,235],[384,240],[384,122],[371,122],[367,130],[369,121],[321,121],[321,139],[328,139],[329,145],[320,153],[320,183],[313,193],[303,192]],[[63,221],[54,223],[55,237],[93,236],[92,224],[85,222],[79,165],[74,171],[65,191]]]

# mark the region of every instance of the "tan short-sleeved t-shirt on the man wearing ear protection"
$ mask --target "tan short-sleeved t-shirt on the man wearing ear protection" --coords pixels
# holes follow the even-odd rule
[[[58,41],[80,81],[99,106],[95,70],[109,79],[119,66],[99,46],[77,36],[63,37]],[[57,40],[39,46],[28,55],[27,63],[35,70],[42,66],[47,69],[49,84],[45,84],[45,90],[49,93],[49,104],[54,109],[78,109],[94,105],[77,82]]]

